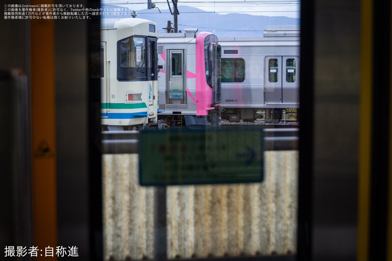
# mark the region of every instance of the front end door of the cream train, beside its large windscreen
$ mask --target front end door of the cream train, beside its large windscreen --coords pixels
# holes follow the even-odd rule
[[[148,46],[147,46],[147,80],[149,83],[149,94],[148,94],[148,114],[150,115],[149,117],[155,117],[156,113],[154,110],[154,107],[156,104],[154,104],[154,99],[155,97],[158,97],[157,92],[158,92],[158,86],[157,86],[157,52],[156,52],[156,38],[148,38]]]

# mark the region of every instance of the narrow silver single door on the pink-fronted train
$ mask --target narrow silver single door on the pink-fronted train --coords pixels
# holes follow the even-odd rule
[[[184,50],[169,50],[167,59],[167,104],[185,104]]]

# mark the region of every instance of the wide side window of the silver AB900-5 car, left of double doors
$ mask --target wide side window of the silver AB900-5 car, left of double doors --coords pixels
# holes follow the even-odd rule
[[[245,60],[221,58],[221,82],[242,83],[243,81],[245,81]]]

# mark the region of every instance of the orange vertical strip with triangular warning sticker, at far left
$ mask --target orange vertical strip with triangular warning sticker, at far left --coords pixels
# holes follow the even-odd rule
[[[54,4],[53,0],[45,4]],[[42,1],[32,0],[40,5]],[[31,20],[31,126],[33,229],[39,260],[57,260],[54,20]],[[45,257],[53,247],[54,257]],[[42,250],[42,251],[40,251]],[[42,255],[42,256],[41,256]]]

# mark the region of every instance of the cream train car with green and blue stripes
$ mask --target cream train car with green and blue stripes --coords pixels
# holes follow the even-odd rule
[[[157,121],[157,39],[157,25],[149,20],[102,20],[101,118],[109,130]]]

